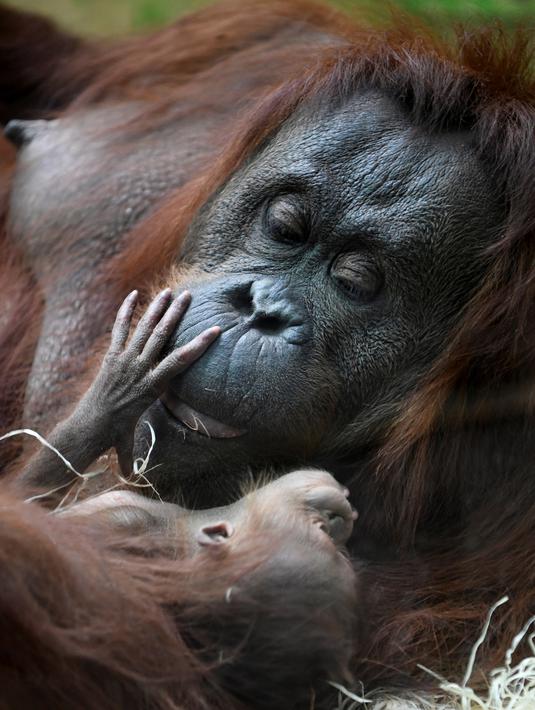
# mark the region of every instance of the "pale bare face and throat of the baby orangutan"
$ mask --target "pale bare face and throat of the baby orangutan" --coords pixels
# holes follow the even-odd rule
[[[287,599],[291,589],[302,604],[349,609],[358,576],[344,548],[357,518],[348,493],[326,471],[302,469],[219,508],[186,510],[121,490],[68,514],[98,516],[128,536],[163,537],[182,559],[216,557],[234,568],[254,559],[234,593]]]

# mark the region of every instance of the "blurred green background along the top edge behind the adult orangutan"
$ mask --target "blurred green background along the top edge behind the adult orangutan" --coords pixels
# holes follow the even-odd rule
[[[535,0],[330,0],[342,9],[367,8],[372,13],[389,6],[423,17],[434,26],[490,22],[535,28]],[[20,9],[56,18],[83,34],[117,35],[165,24],[213,0],[8,0]],[[244,0],[246,2],[246,0]]]

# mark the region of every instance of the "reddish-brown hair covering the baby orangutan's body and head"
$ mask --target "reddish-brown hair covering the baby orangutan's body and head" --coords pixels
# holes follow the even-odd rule
[[[321,551],[317,581],[292,576],[288,563],[278,603],[277,554],[284,566],[310,550],[316,563],[303,527],[252,504],[230,549],[188,560],[180,539],[125,537],[3,493],[0,707],[275,710],[321,679],[347,679],[354,601],[347,585],[318,592]],[[303,590],[314,590],[315,608]]]

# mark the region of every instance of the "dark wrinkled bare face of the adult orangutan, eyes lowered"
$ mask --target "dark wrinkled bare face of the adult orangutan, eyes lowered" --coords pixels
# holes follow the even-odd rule
[[[267,464],[336,472],[340,451],[358,460],[481,276],[501,215],[468,136],[431,136],[377,94],[316,108],[222,189],[186,242],[193,304],[173,346],[215,324],[222,334],[142,417],[169,499],[222,502],[240,471]],[[137,455],[146,440],[140,422]]]

